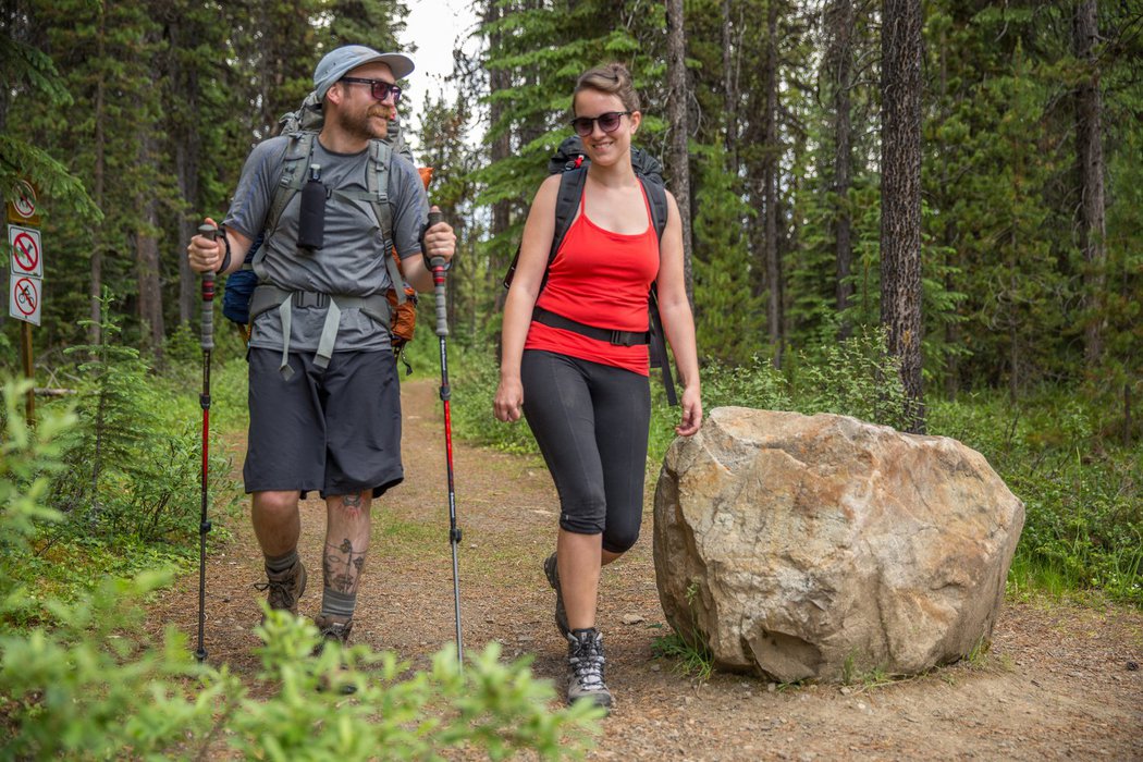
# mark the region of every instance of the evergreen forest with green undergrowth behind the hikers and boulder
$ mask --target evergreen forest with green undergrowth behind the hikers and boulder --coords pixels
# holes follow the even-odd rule
[[[642,101],[640,147],[682,212],[705,409],[953,436],[1025,503],[1012,594],[1143,605],[1143,1],[473,3],[450,88],[401,118],[458,234],[458,435],[534,448],[491,417],[502,278],[572,134],[576,77],[618,61]],[[97,618],[59,601],[112,605],[51,553],[114,575],[197,566],[201,287],[186,242],[224,216],[325,53],[416,58],[409,5],[0,0],[0,195],[31,184],[46,249],[29,327],[9,316],[0,241],[6,664],[24,653],[11,633]],[[417,72],[405,85],[430,87]],[[243,347],[217,312],[215,426],[241,434]],[[409,350],[422,377],[438,372],[432,324],[429,296]],[[655,407],[653,462],[677,414]],[[215,504],[237,503],[214,457]]]

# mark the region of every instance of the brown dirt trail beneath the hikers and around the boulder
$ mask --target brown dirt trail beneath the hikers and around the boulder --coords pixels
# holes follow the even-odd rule
[[[403,408],[406,479],[374,507],[353,639],[423,667],[455,633],[437,384],[406,383]],[[454,462],[464,647],[495,640],[505,657],[531,655],[533,671],[562,691],[566,644],[541,569],[554,546],[551,480],[536,458],[456,442]],[[985,656],[881,685],[789,687],[718,673],[700,680],[653,652],[670,628],[655,587],[650,520],[648,499],[642,539],[604,573],[598,620],[616,705],[589,759],[1143,760],[1136,609],[1008,600]],[[262,559],[248,521],[230,524],[232,538],[208,559],[205,645],[213,663],[253,679],[262,594],[251,585],[264,579]],[[301,609],[309,616],[321,601],[323,530],[325,504],[304,502],[301,553],[311,571]],[[198,573],[152,610],[152,621],[197,632]]]

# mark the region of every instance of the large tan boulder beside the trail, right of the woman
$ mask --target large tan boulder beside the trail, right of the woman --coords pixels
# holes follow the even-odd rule
[[[655,573],[668,620],[721,668],[917,674],[990,637],[1023,524],[956,440],[717,408],[666,454]]]

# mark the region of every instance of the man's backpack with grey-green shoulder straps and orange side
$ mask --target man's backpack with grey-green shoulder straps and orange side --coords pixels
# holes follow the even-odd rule
[[[305,168],[309,166],[313,152],[313,141],[321,131],[323,120],[321,102],[315,93],[310,93],[297,111],[283,114],[278,121],[278,134],[290,137],[286,149],[282,174],[270,202],[270,211],[266,214],[262,232],[247,251],[242,267],[226,278],[223,291],[223,315],[242,329],[246,340],[249,340],[250,337],[250,300],[262,275],[258,272],[259,267],[254,262],[255,255],[265,236],[278,226],[278,219],[286,206],[302,190],[305,182]],[[369,142],[370,171],[367,176],[368,191],[363,200],[369,201],[373,207],[385,241],[385,265],[389,270],[389,278],[394,284],[394,288],[390,288],[385,294],[390,305],[390,340],[393,352],[400,356],[406,344],[413,340],[413,332],[416,328],[417,296],[416,290],[405,282],[400,258],[392,241],[393,220],[387,191],[389,168],[394,153],[403,155],[410,162],[413,161],[413,153],[405,143],[400,126],[395,121],[390,121],[389,135],[383,139]],[[422,168],[419,173],[422,182],[427,187],[432,169]],[[397,283],[400,283],[401,287],[395,287]],[[411,371],[408,362],[405,363],[405,367],[406,372]]]

